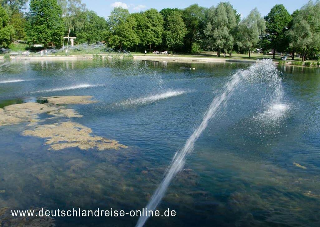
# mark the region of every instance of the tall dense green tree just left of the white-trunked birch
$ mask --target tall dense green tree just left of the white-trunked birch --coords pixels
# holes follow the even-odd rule
[[[31,0],[31,23],[28,29],[30,42],[60,47],[63,40],[62,11],[56,0]]]

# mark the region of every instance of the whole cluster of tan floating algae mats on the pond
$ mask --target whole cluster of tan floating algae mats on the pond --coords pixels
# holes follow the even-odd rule
[[[22,135],[45,138],[45,144],[50,145],[49,150],[61,150],[64,148],[78,147],[82,150],[95,148],[108,150],[127,148],[115,140],[108,140],[101,136],[94,136],[91,128],[81,124],[67,121],[62,123],[44,124],[39,114],[47,114],[46,119],[81,118],[83,115],[74,109],[66,108],[67,104],[95,103],[92,96],[54,96],[41,98],[45,103],[27,102],[14,104],[0,108],[0,126],[14,125],[22,122],[30,122],[29,130],[23,131]],[[31,128],[31,129],[30,129]]]

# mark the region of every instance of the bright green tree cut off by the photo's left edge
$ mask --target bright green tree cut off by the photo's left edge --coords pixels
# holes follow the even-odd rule
[[[0,46],[8,47],[11,44],[14,29],[9,25],[9,15],[0,6]]]

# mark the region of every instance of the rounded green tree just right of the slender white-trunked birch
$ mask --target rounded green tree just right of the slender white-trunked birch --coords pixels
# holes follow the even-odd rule
[[[74,28],[77,41],[79,43],[97,43],[104,39],[107,30],[107,22],[103,17],[99,17],[94,11],[80,12],[76,17]]]

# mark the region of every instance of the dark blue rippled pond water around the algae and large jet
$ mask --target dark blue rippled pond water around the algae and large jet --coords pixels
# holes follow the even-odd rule
[[[2,126],[0,208],[142,209],[212,99],[248,67],[130,60],[1,66],[0,107],[92,95],[99,102],[72,105],[84,115],[72,121],[129,148],[49,151],[43,139],[21,135],[24,124]],[[282,91],[261,69],[253,73],[264,80],[236,84],[158,206],[177,216],[152,217],[145,226],[319,226],[320,71],[279,70]],[[281,100],[274,99],[277,92]],[[55,223],[134,226],[137,220],[60,217]]]

